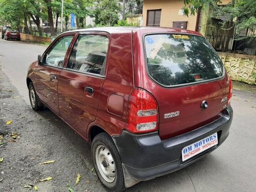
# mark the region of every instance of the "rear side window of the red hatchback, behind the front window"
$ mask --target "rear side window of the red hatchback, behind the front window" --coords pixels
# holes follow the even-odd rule
[[[108,47],[109,38],[104,35],[79,35],[67,68],[104,75]]]

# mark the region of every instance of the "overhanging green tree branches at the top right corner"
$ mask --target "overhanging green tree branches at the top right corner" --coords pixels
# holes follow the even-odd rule
[[[225,6],[218,6],[220,0],[183,0],[184,14],[186,16],[195,15],[202,6],[211,5],[215,13],[229,14],[229,20],[222,22],[222,28],[228,30],[236,25],[236,30],[250,30],[251,36],[255,37],[256,30],[256,1],[255,0],[231,0]],[[235,20],[235,22],[233,22]],[[229,25],[226,25],[229,22]],[[227,26],[227,27],[224,27]]]

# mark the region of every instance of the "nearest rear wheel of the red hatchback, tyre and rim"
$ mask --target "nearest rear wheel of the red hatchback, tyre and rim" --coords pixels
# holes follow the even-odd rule
[[[110,191],[123,191],[122,162],[112,138],[98,134],[92,142],[92,158],[95,172],[101,183]]]

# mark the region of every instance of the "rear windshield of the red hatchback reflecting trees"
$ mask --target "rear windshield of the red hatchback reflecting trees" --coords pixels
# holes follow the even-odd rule
[[[147,71],[162,86],[178,86],[224,75],[223,63],[200,36],[152,34],[144,38]]]

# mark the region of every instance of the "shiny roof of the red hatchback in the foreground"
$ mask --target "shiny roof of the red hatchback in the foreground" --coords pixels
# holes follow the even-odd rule
[[[110,34],[140,32],[144,34],[145,33],[179,33],[179,34],[191,34],[191,35],[202,36],[200,33],[196,31],[190,31],[190,30],[179,29],[179,28],[168,28],[168,27],[98,27],[98,28],[72,30],[64,33],[90,32],[90,31],[107,32]]]

